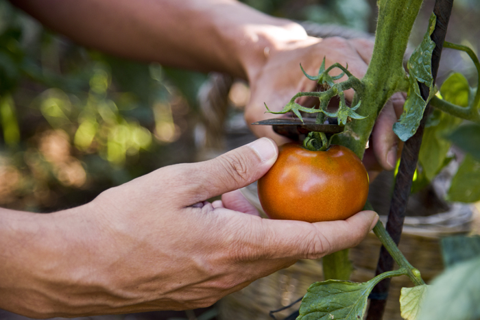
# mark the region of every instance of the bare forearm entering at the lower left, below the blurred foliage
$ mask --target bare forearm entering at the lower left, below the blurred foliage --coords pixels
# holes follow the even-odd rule
[[[82,304],[82,284],[97,281],[95,264],[88,261],[96,243],[88,217],[72,210],[35,214],[0,208],[1,309],[38,318]]]

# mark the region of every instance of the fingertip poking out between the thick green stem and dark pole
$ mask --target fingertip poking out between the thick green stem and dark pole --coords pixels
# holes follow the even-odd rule
[[[397,105],[400,103],[398,99],[402,99],[400,97],[398,95],[394,97]],[[371,139],[375,158],[385,170],[393,170],[395,168],[398,141],[400,140],[393,130],[394,123],[398,119],[393,101],[390,99],[380,112],[378,119],[376,119]]]

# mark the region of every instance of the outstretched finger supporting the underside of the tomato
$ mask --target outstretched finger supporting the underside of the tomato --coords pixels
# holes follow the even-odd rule
[[[317,223],[263,219],[263,254],[269,258],[317,259],[355,247],[378,220],[373,211],[361,211],[346,220]]]

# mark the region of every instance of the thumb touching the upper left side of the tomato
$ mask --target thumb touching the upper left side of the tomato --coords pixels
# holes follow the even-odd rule
[[[229,151],[213,160],[195,164],[179,164],[173,179],[182,206],[216,197],[248,186],[259,180],[272,167],[278,147],[269,138]]]

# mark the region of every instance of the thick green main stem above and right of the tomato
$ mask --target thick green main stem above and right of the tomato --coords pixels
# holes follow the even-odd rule
[[[422,0],[379,1],[374,51],[368,71],[361,80],[364,88],[358,110],[359,114],[368,117],[349,123],[348,132],[335,140],[355,151],[360,158],[363,158],[365,145],[383,106],[396,91],[405,88],[403,56],[421,5]]]

